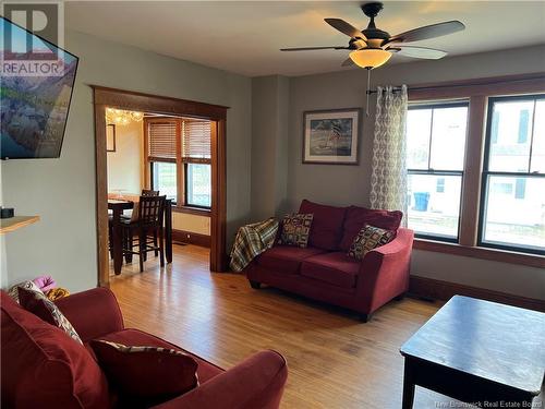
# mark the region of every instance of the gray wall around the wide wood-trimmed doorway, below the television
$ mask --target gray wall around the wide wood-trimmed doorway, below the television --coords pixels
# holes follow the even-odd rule
[[[80,57],[60,159],[1,164],[2,204],[41,220],[5,237],[2,287],[50,274],[72,291],[96,286],[95,136],[88,84],[219,104],[227,118],[228,239],[250,216],[251,80],[191,62],[66,34]],[[229,240],[230,241],[230,240]]]

